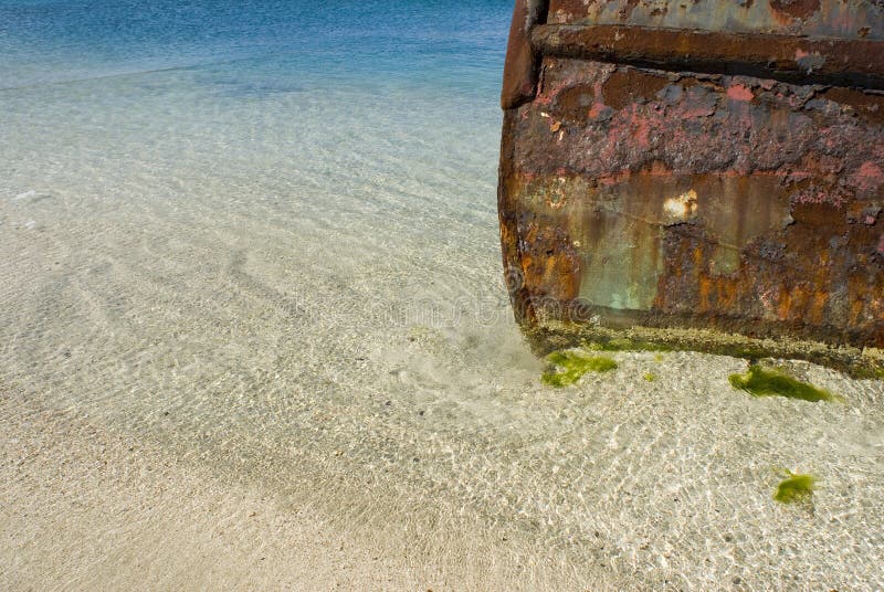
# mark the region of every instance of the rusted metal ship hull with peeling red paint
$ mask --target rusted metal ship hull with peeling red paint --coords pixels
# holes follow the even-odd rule
[[[523,326],[884,348],[880,2],[522,3],[498,205]]]

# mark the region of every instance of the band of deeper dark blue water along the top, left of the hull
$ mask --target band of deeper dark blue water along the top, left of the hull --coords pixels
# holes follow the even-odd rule
[[[244,86],[495,92],[511,2],[0,1],[0,87],[240,64]]]

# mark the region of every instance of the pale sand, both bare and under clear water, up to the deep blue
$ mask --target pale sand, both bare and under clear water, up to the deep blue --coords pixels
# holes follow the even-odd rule
[[[884,589],[884,383],[617,352],[545,387],[496,106],[198,75],[7,96],[0,589]]]

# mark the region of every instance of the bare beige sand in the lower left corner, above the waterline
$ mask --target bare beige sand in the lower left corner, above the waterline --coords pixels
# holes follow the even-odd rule
[[[4,394],[3,590],[487,590],[524,582],[495,571],[488,557],[409,563],[341,531],[322,510],[281,508],[260,488]]]

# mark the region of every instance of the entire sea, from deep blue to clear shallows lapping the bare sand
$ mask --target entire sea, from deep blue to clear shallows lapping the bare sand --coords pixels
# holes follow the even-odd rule
[[[315,4],[0,0],[0,392],[528,589],[884,586],[881,383],[539,383],[495,210],[511,3]]]

